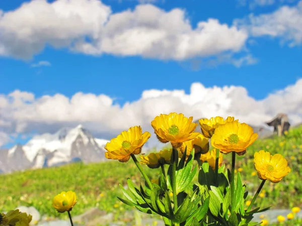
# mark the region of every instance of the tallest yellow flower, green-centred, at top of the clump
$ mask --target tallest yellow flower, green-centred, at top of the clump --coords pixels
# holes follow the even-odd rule
[[[173,147],[179,148],[183,142],[192,140],[199,134],[194,133],[197,124],[192,123],[192,120],[193,117],[187,118],[183,114],[171,112],[169,115],[155,117],[151,126],[160,142],[171,142]]]

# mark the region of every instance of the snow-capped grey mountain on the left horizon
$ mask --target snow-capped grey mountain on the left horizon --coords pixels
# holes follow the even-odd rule
[[[62,128],[55,134],[34,136],[24,146],[0,151],[0,170],[11,172],[28,168],[42,168],[61,165],[73,160],[84,163],[105,160],[104,146],[108,141],[95,139],[79,125]]]

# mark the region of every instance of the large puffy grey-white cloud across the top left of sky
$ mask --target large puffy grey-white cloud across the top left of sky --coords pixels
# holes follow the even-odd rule
[[[193,29],[184,10],[150,4],[113,14],[98,0],[33,0],[0,16],[0,55],[21,59],[51,45],[91,55],[185,60],[239,52],[247,38],[216,19]]]

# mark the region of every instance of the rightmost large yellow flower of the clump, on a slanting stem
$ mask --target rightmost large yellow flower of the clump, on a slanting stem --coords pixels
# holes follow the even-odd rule
[[[263,150],[254,154],[254,165],[260,179],[277,183],[290,172],[287,161],[280,154],[271,155]]]

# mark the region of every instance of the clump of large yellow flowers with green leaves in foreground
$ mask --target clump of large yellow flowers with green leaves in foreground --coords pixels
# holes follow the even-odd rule
[[[251,209],[265,181],[280,182],[290,172],[282,155],[272,156],[263,150],[254,153],[257,172],[253,175],[258,174],[262,182],[253,199],[245,200],[245,186],[240,185],[243,169],[238,168],[237,171],[235,164],[236,155],[244,155],[258,138],[252,127],[234,117],[213,117],[199,120],[202,133],[198,133],[198,124],[193,123],[193,117],[187,118],[176,112],[155,117],[151,126],[158,140],[164,144],[169,142],[171,149],[141,155],[139,163],[135,155],[141,153],[150,133],[142,133],[141,127],[135,126],[106,144],[105,157],[120,162],[127,162],[130,157],[133,159],[145,179],[146,188],[135,188],[128,179],[130,191],[123,189],[127,200],[119,199],[140,211],[163,216],[166,225],[207,225],[207,220],[223,225],[255,225],[250,223],[251,215],[264,210]],[[223,154],[229,153],[232,153],[231,172],[222,165]],[[187,193],[197,172],[196,167],[193,169],[195,160],[199,168],[199,185],[193,185],[193,191]],[[159,179],[150,181],[140,164],[149,168],[161,167]],[[169,165],[167,173],[165,165]],[[260,196],[263,194],[264,191]],[[247,209],[244,209],[244,204]]]

